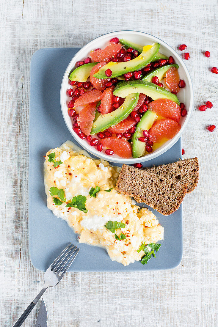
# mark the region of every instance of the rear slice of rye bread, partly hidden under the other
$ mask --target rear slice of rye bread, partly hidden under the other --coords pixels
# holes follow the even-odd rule
[[[174,163],[162,164],[151,168],[144,167],[146,171],[155,173],[172,180],[187,184],[186,193],[191,193],[197,186],[199,175],[198,158],[184,159]]]

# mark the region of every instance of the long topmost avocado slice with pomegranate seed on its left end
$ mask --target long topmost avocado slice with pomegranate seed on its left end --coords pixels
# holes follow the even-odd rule
[[[154,58],[160,48],[160,44],[153,43],[152,45],[145,45],[142,53],[135,59],[124,62],[113,62],[110,61],[106,65],[102,66],[97,73],[93,76],[96,78],[108,78],[105,75],[106,69],[112,71],[111,77],[117,77],[125,73],[140,70],[147,66],[149,62]]]

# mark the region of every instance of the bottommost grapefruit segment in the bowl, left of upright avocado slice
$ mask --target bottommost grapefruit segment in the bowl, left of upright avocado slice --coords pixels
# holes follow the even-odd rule
[[[130,143],[124,139],[119,139],[118,137],[107,137],[106,139],[101,139],[101,143],[104,147],[111,149],[115,154],[121,158],[131,158],[132,148]]]

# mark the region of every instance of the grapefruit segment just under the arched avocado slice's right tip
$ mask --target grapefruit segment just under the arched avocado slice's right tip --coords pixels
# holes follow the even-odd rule
[[[158,116],[171,118],[177,123],[181,118],[181,109],[177,103],[170,99],[157,99],[148,104],[148,110],[153,111]]]

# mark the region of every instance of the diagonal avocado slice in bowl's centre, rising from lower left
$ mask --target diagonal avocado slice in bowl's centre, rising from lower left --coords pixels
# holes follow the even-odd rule
[[[91,135],[101,132],[111,126],[117,125],[123,119],[129,116],[130,112],[136,107],[138,102],[138,93],[127,95],[123,104],[113,112],[100,115],[92,125]]]

